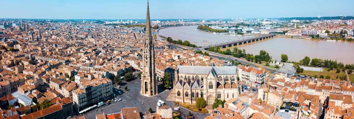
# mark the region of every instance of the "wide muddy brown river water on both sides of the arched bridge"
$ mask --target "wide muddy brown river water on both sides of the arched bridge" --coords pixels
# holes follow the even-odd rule
[[[160,29],[159,34],[172,39],[188,40],[198,46],[229,42],[255,36],[230,36],[229,34],[213,34],[204,31],[194,31],[197,26],[181,26]],[[206,40],[207,42],[203,42]],[[280,61],[281,54],[287,54],[289,61],[299,61],[305,56],[312,58],[337,60],[344,64],[354,63],[354,42],[347,41],[319,41],[303,38],[274,37],[256,42],[236,45],[245,49],[247,53],[258,55],[265,50],[273,60]],[[228,47],[233,49],[234,47]],[[223,48],[222,50],[226,50]]]

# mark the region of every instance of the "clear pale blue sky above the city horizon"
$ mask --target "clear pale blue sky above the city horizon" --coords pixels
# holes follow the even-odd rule
[[[150,0],[151,19],[352,16],[354,0]],[[1,0],[0,18],[145,19],[146,0]]]

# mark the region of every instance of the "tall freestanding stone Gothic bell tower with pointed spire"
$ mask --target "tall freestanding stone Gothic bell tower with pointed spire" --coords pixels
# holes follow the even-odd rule
[[[146,14],[146,31],[143,51],[143,72],[141,75],[141,94],[144,96],[154,96],[158,94],[155,75],[155,50],[151,36],[149,0]]]

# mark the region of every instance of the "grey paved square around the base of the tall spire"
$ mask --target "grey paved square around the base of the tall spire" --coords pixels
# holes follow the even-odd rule
[[[124,92],[124,86],[128,87],[128,91]],[[158,86],[159,87],[159,86]],[[121,91],[122,94],[118,95],[118,91]],[[173,106],[175,103],[171,101],[167,101],[167,97],[169,96],[171,90],[162,90],[161,88],[158,88],[159,94],[156,96],[152,97],[145,97],[140,94],[141,91],[141,80],[136,79],[130,82],[124,82],[121,85],[121,88],[114,87],[113,92],[116,94],[116,97],[119,96],[118,98],[121,98],[122,101],[117,101],[115,102],[114,99],[111,99],[111,104],[105,104],[101,107],[98,107],[94,110],[91,110],[90,112],[85,113],[86,119],[95,119],[96,114],[111,114],[111,113],[118,113],[120,112],[121,108],[125,107],[138,107],[139,111],[141,112],[141,115],[144,112],[148,112],[149,108],[151,108],[154,112],[156,111],[156,103],[158,102],[159,99],[164,101],[167,106],[170,106],[173,110]],[[173,110],[175,112],[176,110]],[[178,110],[178,112],[181,113],[181,115],[187,115],[189,113],[189,110],[181,108],[181,110]],[[192,114],[196,117],[196,119],[204,119],[208,114],[198,114],[198,113],[193,113]]]

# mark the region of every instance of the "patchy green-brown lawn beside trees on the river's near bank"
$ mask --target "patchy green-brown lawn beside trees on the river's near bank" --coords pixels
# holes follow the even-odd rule
[[[304,70],[304,72],[296,73],[296,74],[308,75],[308,76],[312,76],[312,77],[315,77],[315,75],[317,75],[317,77],[319,77],[320,75],[324,75],[326,77],[328,75],[328,76],[331,76],[331,79],[333,79],[333,80],[338,80],[338,79],[336,79],[337,75],[339,75],[339,76],[345,75],[344,71],[336,73],[336,70],[327,71],[326,68],[324,68],[322,72]],[[354,82],[354,75],[353,74],[348,74],[348,75],[349,75],[350,81]]]

